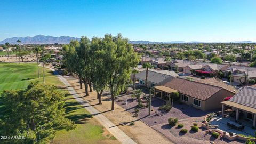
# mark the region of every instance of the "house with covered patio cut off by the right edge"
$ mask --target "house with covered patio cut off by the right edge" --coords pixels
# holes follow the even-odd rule
[[[236,121],[246,119],[252,122],[253,127],[256,127],[256,87],[247,86],[229,100],[221,102],[221,104],[222,116],[226,115],[226,109],[231,109]]]

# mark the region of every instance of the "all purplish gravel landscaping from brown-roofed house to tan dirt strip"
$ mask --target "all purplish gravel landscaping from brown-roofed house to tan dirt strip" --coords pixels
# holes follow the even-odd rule
[[[131,98],[131,94],[123,95],[116,99],[116,103],[122,106],[126,111],[129,111],[131,114],[135,115],[135,108],[137,108],[137,100]],[[145,124],[149,125],[156,131],[165,135],[173,143],[187,143],[187,144],[197,144],[197,143],[244,143],[244,141],[229,141],[223,138],[214,138],[210,134],[206,134],[206,130],[201,127],[201,122],[204,121],[204,118],[207,114],[212,113],[213,111],[202,111],[189,107],[188,105],[181,104],[179,102],[174,103],[174,107],[169,112],[158,110],[160,106],[164,104],[164,101],[153,97],[151,101],[151,115],[148,116],[148,108],[140,108],[137,118],[140,119]],[[146,103],[143,103],[146,105]],[[167,121],[169,118],[174,117],[178,118],[178,124],[183,124],[185,129],[188,130],[186,134],[180,132],[180,128],[177,126],[171,127]],[[197,123],[199,127],[198,132],[191,131],[193,123]]]

